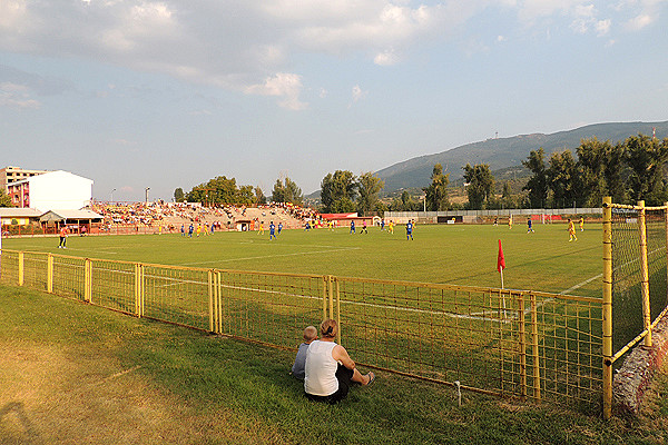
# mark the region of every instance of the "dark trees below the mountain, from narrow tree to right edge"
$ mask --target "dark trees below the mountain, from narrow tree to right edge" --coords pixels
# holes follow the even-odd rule
[[[494,177],[487,164],[464,170],[468,209],[599,207],[605,196],[615,202],[648,206],[668,201],[668,139],[631,136],[612,145],[597,138],[583,139],[576,148],[557,151],[546,159],[543,148],[530,151],[522,166],[530,177],[521,192],[513,194],[505,181],[501,196],[494,192]],[[454,209],[448,199],[449,175],[434,166],[431,185],[424,188],[428,210]]]

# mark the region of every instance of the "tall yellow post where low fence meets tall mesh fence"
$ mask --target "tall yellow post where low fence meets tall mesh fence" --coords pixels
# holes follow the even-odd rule
[[[612,198],[603,198],[603,418],[612,416]]]

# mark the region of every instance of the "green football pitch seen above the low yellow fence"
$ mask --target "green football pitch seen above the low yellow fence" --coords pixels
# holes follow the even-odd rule
[[[564,224],[419,225],[414,240],[403,226],[394,234],[371,227],[369,234],[337,228],[283,230],[269,240],[268,230],[219,231],[209,236],[180,234],[70,236],[68,249],[58,238],[8,238],[6,249],[52,253],[194,268],[334,275],[386,280],[500,287],[499,239],[503,246],[508,289],[600,297],[602,247],[600,225],[590,224],[569,243]]]

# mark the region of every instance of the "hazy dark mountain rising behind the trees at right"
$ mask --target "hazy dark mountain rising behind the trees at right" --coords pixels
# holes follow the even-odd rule
[[[450,174],[451,184],[463,176],[462,167],[466,164],[488,164],[490,170],[521,167],[531,150],[543,148],[546,161],[550,154],[570,149],[576,155],[576,148],[582,139],[598,138],[611,144],[623,141],[629,136],[638,134],[656,137],[668,137],[668,121],[662,122],[611,122],[595,123],[573,130],[558,131],[550,135],[531,134],[509,138],[494,138],[480,142],[466,144],[434,155],[424,155],[402,162],[394,164],[375,175],[385,181],[383,195],[391,195],[401,189],[422,188],[429,186],[435,164],[440,162],[443,170]],[[320,192],[317,192],[320,195]]]

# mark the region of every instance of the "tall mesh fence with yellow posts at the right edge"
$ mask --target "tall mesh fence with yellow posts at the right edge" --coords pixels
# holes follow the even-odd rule
[[[603,198],[603,417],[612,415],[613,369],[636,345],[654,347],[668,312],[668,202]]]

